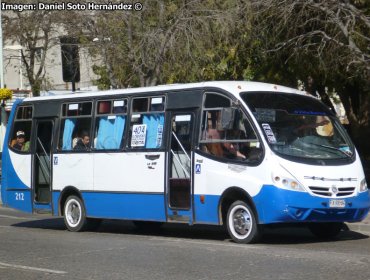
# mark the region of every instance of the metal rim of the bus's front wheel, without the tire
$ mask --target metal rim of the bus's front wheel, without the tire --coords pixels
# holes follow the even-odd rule
[[[253,227],[252,215],[247,207],[238,205],[229,215],[229,228],[238,239],[245,239],[251,233]]]

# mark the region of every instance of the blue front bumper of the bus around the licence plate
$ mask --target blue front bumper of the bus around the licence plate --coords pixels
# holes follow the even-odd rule
[[[331,206],[335,204],[330,202],[331,200],[341,200],[340,206]],[[289,191],[265,185],[253,201],[261,224],[359,222],[369,212],[370,192],[366,191],[353,197],[323,198],[307,192]]]

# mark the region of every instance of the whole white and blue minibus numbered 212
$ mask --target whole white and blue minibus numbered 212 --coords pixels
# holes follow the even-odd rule
[[[225,225],[238,243],[265,225],[334,237],[370,194],[356,149],[318,99],[230,81],[17,100],[4,140],[7,207],[63,216]]]

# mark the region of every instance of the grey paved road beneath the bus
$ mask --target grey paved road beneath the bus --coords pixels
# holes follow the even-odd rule
[[[0,279],[370,279],[370,239],[285,229],[238,245],[217,227],[150,233],[118,221],[72,233],[60,218],[0,207]]]

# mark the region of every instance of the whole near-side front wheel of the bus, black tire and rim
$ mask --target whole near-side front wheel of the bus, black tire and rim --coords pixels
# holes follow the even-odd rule
[[[252,208],[244,201],[237,200],[230,205],[226,227],[236,243],[255,243],[260,238],[260,228]]]

